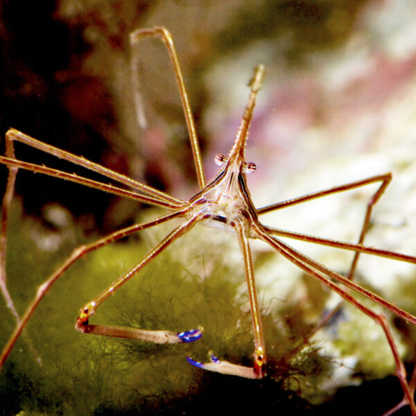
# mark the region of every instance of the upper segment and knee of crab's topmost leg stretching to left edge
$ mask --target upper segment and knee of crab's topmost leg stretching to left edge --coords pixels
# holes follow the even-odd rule
[[[8,146],[8,151],[6,156],[15,159],[15,153],[13,150],[13,142],[19,141],[20,143],[26,144],[27,146],[31,146],[42,152],[49,153],[49,155],[53,155],[59,157],[60,159],[66,160],[67,162],[71,162],[73,164],[77,164],[78,166],[83,166],[84,168],[89,169],[90,171],[100,173],[103,176],[110,177],[110,179],[115,180],[121,184],[125,184],[132,189],[137,189],[141,192],[144,192],[148,195],[154,196],[158,200],[168,203],[170,202],[171,205],[178,206],[182,203],[181,200],[177,198],[173,198],[173,196],[168,195],[162,191],[158,191],[152,187],[148,187],[145,184],[141,184],[132,178],[122,175],[121,173],[112,171],[111,169],[105,168],[100,164],[96,164],[90,160],[85,159],[85,157],[80,157],[73,155],[73,153],[69,153],[66,150],[62,150],[60,148],[56,148],[49,144],[44,143],[43,141],[34,139],[31,136],[25,135],[19,130],[15,130],[10,128],[6,133],[6,146]]]

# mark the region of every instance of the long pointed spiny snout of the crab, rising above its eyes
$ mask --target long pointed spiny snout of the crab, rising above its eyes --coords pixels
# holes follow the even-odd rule
[[[257,92],[263,84],[264,78],[264,65],[260,64],[254,69],[254,76],[250,81],[251,91],[250,96],[248,97],[248,103],[245,106],[243,119],[241,119],[241,125],[239,132],[237,132],[236,140],[234,141],[234,146],[229,152],[229,157],[235,153],[240,153],[242,156],[245,154],[245,143],[248,136],[248,128],[250,126],[250,121],[252,120],[254,105],[256,105],[256,96]]]

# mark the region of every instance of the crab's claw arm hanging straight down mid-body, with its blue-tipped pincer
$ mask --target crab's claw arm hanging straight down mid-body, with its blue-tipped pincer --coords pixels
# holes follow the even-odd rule
[[[254,366],[244,367],[243,365],[236,365],[228,361],[220,361],[216,356],[211,354],[211,362],[200,363],[188,358],[188,362],[203,370],[219,372],[221,374],[231,374],[234,376],[241,376],[247,379],[261,379],[263,377],[263,365],[266,363],[266,349],[263,339],[263,329],[261,325],[261,316],[259,309],[259,300],[257,299],[256,282],[254,279],[254,269],[252,254],[248,238],[245,236],[244,225],[237,222],[235,225],[237,236],[239,238],[239,245],[243,253],[245,279],[248,287],[248,297],[250,300],[250,310],[252,315],[253,333],[254,333]]]

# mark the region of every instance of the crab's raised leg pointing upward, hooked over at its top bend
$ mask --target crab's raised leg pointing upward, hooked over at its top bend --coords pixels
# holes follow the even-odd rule
[[[187,88],[185,87],[184,77],[182,76],[182,71],[180,69],[179,60],[177,58],[177,53],[175,50],[175,44],[173,44],[173,38],[171,33],[169,33],[165,28],[155,27],[148,29],[139,29],[130,33],[130,46],[135,46],[140,42],[143,37],[160,37],[166,48],[168,49],[169,57],[173,64],[173,69],[175,71],[175,78],[177,85],[179,87],[180,98],[182,100],[182,107],[184,110],[184,116],[187,121],[187,128],[189,132],[189,139],[191,140],[191,147],[193,153],[193,161],[195,162],[196,175],[198,176],[198,183],[200,189],[205,187],[205,173],[202,166],[202,157],[200,153],[200,146],[198,143],[198,135],[196,134],[195,123],[193,121],[193,115],[191,111],[191,105],[189,105],[189,98],[187,93]],[[133,77],[133,88],[135,91],[139,91],[139,80],[137,78],[137,56],[132,54],[131,67],[132,67],[132,77]]]

